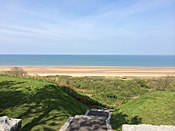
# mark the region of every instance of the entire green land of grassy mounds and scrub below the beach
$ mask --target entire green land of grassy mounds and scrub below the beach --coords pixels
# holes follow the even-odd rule
[[[113,108],[122,124],[175,125],[175,78],[119,80],[104,77],[0,75],[0,116],[21,118],[22,130],[58,130],[88,108]]]

